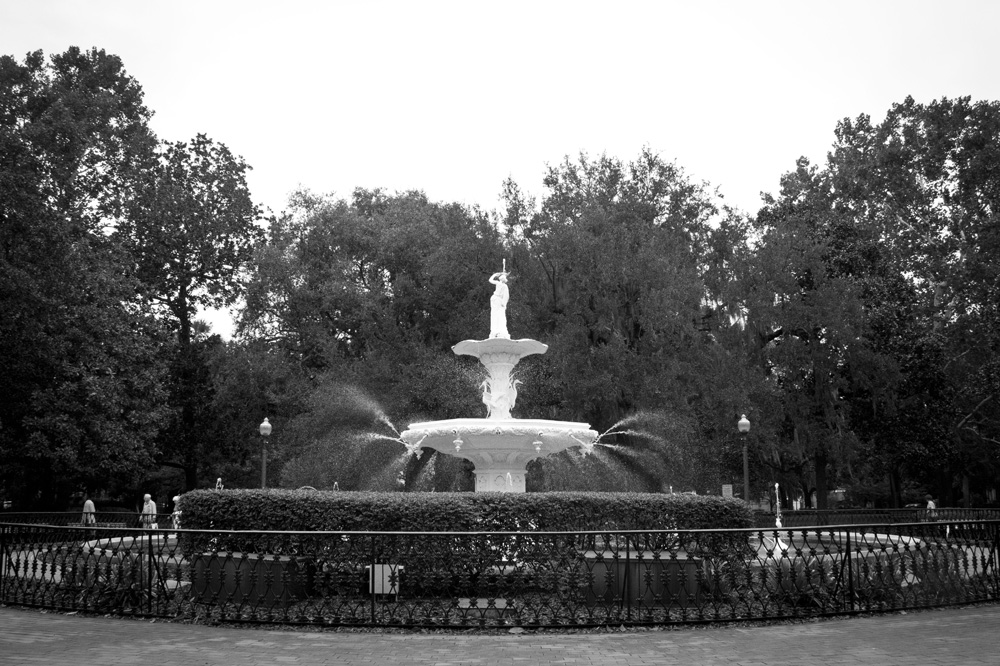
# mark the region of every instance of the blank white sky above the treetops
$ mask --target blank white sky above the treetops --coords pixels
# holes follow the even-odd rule
[[[160,138],[227,144],[274,212],[299,186],[493,209],[644,145],[756,212],[845,116],[1000,99],[997,26],[993,0],[0,0],[0,53],[119,55]]]

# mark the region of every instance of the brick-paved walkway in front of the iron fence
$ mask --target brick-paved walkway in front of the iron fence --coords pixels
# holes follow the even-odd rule
[[[0,664],[997,666],[1000,605],[756,627],[607,633],[274,631],[0,607]]]

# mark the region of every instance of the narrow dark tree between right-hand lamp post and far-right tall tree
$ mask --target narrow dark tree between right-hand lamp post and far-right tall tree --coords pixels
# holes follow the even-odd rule
[[[850,223],[828,205],[818,170],[800,160],[765,198],[754,222],[759,242],[735,282],[754,341],[750,360],[773,385],[779,418],[766,463],[791,475],[826,508],[831,473],[856,455],[848,395],[871,386],[880,361],[856,275],[841,247]],[[773,417],[772,417],[773,418]]]

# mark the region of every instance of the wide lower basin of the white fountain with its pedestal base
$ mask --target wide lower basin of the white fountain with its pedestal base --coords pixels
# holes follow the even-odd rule
[[[574,446],[589,453],[597,432],[572,421],[469,418],[413,423],[401,437],[414,453],[427,447],[471,461],[477,491],[524,492],[529,462]]]

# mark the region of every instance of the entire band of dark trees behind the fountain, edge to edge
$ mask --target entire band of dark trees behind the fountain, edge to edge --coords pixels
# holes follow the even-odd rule
[[[514,415],[607,433],[529,490],[718,493],[745,446],[752,498],[996,503],[1000,103],[845,119],[753,215],[645,149],[505,182],[496,211],[358,189],[264,220],[242,158],[150,116],[103,51],[0,58],[4,500],[256,486],[264,447],[269,486],[469,490],[398,434],[483,414],[451,346],[485,337],[506,263],[513,337],[549,345]],[[198,321],[220,305],[233,341]]]

